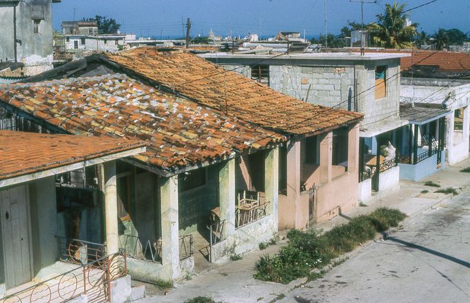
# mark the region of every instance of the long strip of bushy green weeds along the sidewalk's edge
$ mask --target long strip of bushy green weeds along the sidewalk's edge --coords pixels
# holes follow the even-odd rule
[[[397,227],[405,217],[399,210],[381,207],[369,215],[356,216],[349,223],[336,226],[325,234],[293,229],[287,233],[289,243],[278,254],[265,254],[256,261],[254,278],[287,284],[309,277],[312,269],[321,268],[352,251],[360,243],[373,239],[377,232]]]

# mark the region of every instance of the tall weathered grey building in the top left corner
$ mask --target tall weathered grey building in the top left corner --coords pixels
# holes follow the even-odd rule
[[[52,69],[52,3],[57,2],[0,1],[0,58],[23,63],[17,71],[1,71],[1,82]]]

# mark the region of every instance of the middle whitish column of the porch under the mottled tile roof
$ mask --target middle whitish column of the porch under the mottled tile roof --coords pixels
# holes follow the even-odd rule
[[[225,220],[224,238],[235,232],[235,159],[218,166],[218,197],[221,220]]]

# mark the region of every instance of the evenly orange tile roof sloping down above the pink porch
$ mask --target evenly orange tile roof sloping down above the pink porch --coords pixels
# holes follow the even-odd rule
[[[127,73],[174,89],[247,122],[284,133],[322,133],[362,118],[360,113],[329,109],[285,96],[188,52],[142,47],[106,56]]]

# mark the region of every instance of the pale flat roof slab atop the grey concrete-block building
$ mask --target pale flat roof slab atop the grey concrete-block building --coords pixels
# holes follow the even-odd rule
[[[360,60],[360,61],[369,61],[369,60],[383,60],[383,59],[396,59],[396,58],[403,58],[409,57],[411,54],[390,54],[390,53],[365,53],[364,56],[360,56],[359,53],[353,52],[327,52],[327,53],[305,53],[305,54],[285,54],[276,56],[276,54],[231,54],[231,53],[224,53],[224,52],[216,52],[216,53],[208,53],[208,54],[200,54],[202,58],[219,58],[219,59],[227,59],[227,58],[237,58],[237,59],[310,59],[310,60]],[[274,56],[276,56],[274,58]]]

